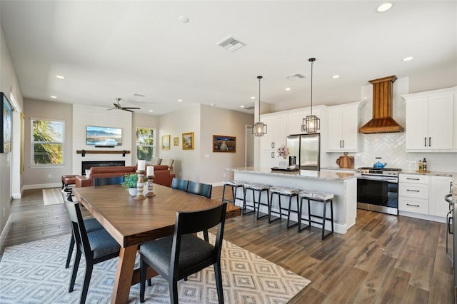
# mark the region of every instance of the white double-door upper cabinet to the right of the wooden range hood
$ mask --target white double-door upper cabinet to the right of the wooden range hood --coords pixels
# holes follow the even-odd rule
[[[406,100],[406,151],[455,151],[456,87],[401,96]]]

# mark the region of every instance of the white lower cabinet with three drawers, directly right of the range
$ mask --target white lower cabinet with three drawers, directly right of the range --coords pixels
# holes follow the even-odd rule
[[[398,211],[428,215],[428,176],[400,174]]]

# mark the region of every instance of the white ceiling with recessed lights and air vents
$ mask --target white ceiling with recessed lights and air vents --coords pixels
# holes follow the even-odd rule
[[[311,57],[313,105],[358,101],[371,79],[457,66],[457,1],[379,4],[0,0],[0,17],[25,98],[109,108],[120,97],[161,115],[195,103],[246,111],[258,75],[262,103],[309,106]],[[246,46],[216,45],[228,36]]]

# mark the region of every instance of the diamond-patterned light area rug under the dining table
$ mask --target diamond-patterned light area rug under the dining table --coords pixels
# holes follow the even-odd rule
[[[83,258],[75,290],[69,293],[71,268],[64,268],[69,241],[70,235],[62,235],[5,248],[0,261],[0,303],[79,303],[86,263]],[[214,242],[214,235],[210,241]],[[86,303],[109,303],[117,261],[94,265]],[[287,303],[311,283],[226,240],[221,268],[228,304]],[[152,283],[146,285],[146,303],[170,303],[166,280],[156,276]],[[213,267],[179,281],[178,288],[179,303],[218,303]],[[129,303],[139,303],[139,284],[131,287]]]

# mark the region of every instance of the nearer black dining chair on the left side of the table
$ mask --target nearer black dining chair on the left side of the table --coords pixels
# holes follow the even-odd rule
[[[86,258],[86,273],[80,303],[86,302],[94,265],[119,256],[121,246],[105,229],[87,232],[78,202],[64,201],[71,221],[71,230],[76,244],[76,257],[71,272],[69,293],[74,290],[81,254]]]

